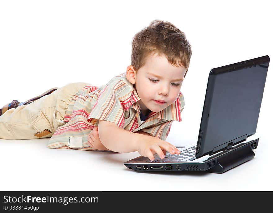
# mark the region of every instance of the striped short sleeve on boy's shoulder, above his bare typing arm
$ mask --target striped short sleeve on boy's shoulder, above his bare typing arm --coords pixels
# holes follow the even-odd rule
[[[110,121],[123,128],[124,106],[121,104],[119,92],[124,88],[124,82],[113,81],[101,90],[87,121],[98,126],[99,120]]]

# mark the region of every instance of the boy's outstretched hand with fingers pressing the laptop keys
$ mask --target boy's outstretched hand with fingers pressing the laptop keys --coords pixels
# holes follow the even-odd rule
[[[166,151],[171,154],[180,154],[180,151],[174,145],[151,136],[143,137],[143,140],[138,144],[137,151],[151,161],[154,160],[154,153],[157,153],[161,159],[165,158]]]

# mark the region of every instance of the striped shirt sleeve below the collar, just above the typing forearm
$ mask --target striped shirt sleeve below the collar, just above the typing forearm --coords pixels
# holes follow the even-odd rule
[[[161,140],[166,140],[171,130],[172,122],[173,121],[164,120],[163,122],[158,122],[157,124],[152,125],[152,127],[150,128],[144,128],[140,131],[149,133],[151,136],[159,138]]]

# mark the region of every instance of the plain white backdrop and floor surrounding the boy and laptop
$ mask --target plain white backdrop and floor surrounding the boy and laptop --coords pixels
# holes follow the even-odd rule
[[[0,108],[70,82],[106,84],[131,64],[133,36],[154,19],[166,20],[192,45],[182,122],[173,123],[167,141],[195,143],[209,71],[273,57],[271,9],[268,1],[0,1]],[[0,190],[272,190],[271,67],[255,157],[226,173],[141,173],[123,165],[137,152],[47,149],[47,138],[0,140]]]

